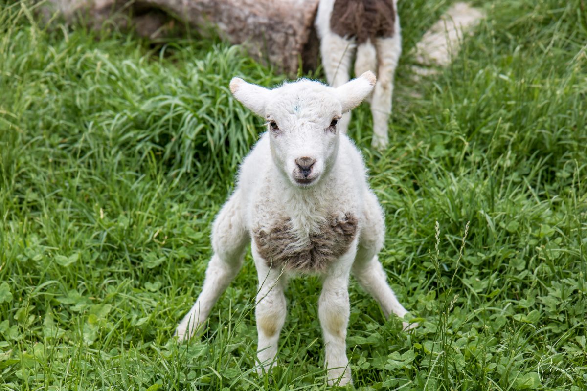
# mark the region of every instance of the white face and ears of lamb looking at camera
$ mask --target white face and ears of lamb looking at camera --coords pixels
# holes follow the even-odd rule
[[[267,121],[275,165],[294,186],[309,188],[328,174],[338,152],[337,123],[372,90],[366,72],[337,89],[311,80],[274,90],[234,78],[230,88],[242,104]]]

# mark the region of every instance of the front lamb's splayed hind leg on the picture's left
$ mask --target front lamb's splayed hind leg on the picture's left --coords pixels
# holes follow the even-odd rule
[[[189,339],[204,323],[212,306],[237,276],[249,237],[242,220],[240,192],[224,204],[212,227],[214,255],[208,263],[202,292],[176,329],[180,341]]]

